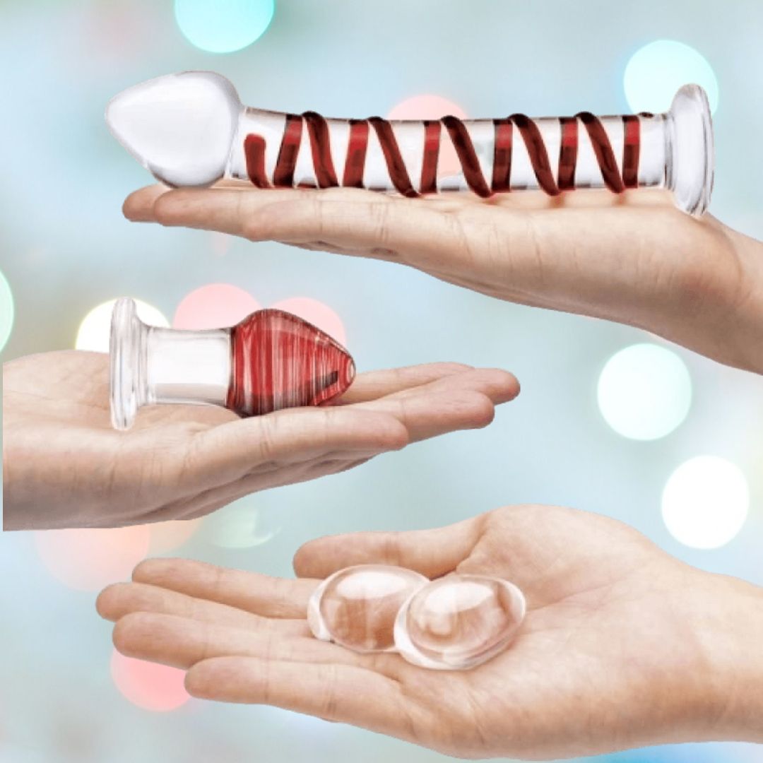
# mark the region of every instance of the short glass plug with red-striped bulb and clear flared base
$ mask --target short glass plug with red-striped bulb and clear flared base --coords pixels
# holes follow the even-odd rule
[[[133,300],[111,316],[111,423],[129,429],[140,406],[220,405],[240,416],[320,405],[352,383],[349,353],[312,324],[282,310],[258,310],[229,328],[147,326]]]

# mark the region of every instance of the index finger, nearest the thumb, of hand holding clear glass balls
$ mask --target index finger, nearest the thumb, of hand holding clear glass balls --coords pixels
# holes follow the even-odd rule
[[[133,581],[278,618],[305,617],[307,600],[319,582],[272,578],[192,559],[146,559],[134,569]]]

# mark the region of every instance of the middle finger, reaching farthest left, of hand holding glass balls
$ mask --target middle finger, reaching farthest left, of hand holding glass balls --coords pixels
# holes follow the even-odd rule
[[[282,635],[306,636],[306,620],[273,620],[217,601],[197,599],[143,583],[115,583],[98,595],[98,614],[116,621],[131,612],[157,612],[255,631],[275,630]]]

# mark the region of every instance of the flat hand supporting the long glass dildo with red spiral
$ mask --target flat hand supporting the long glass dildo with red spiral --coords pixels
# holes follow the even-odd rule
[[[663,192],[408,199],[353,188],[150,186],[134,221],[401,262],[520,304],[642,327],[763,373],[763,244]]]

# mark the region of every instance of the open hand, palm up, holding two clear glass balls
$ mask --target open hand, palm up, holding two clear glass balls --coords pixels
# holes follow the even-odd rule
[[[427,671],[309,636],[337,569],[496,575],[527,597],[506,652]],[[319,539],[300,578],[150,559],[98,598],[126,655],[188,669],[195,697],[267,703],[458,757],[548,759],[663,742],[763,742],[763,591],[672,559],[614,520],[523,506],[410,533]]]

